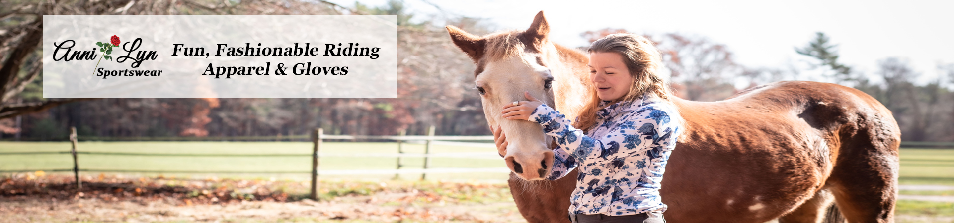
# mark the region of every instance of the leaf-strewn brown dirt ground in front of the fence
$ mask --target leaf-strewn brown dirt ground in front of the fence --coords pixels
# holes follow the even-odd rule
[[[0,178],[0,222],[523,222],[506,185],[427,182]],[[299,194],[299,195],[289,195]]]

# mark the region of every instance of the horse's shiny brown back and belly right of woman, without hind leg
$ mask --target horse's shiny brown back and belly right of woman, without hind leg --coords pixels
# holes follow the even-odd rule
[[[891,154],[892,148],[897,157],[890,112],[839,85],[776,82],[723,101],[674,103],[686,130],[661,191],[673,222],[764,222],[844,178],[832,177],[840,174],[835,167],[842,158]],[[884,133],[871,135],[872,128]],[[883,146],[855,145],[872,141]]]

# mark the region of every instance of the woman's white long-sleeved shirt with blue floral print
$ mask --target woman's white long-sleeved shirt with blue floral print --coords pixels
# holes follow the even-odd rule
[[[652,95],[600,110],[587,134],[547,105],[530,114],[529,120],[543,125],[560,147],[553,151],[548,179],[580,169],[570,196],[570,213],[666,211],[659,185],[682,125],[674,105]]]

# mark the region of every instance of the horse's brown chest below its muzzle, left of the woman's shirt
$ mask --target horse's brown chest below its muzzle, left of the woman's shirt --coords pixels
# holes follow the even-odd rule
[[[510,194],[513,194],[513,201],[527,222],[567,223],[570,222],[570,193],[576,185],[576,175],[574,170],[554,181],[526,181],[510,172]]]

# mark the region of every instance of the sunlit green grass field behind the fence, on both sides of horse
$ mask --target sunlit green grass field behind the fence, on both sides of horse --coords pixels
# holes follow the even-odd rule
[[[153,153],[297,153],[309,154],[310,142],[80,142],[81,152],[153,152]],[[0,152],[69,151],[67,142],[0,142]],[[321,152],[388,153],[397,152],[396,143],[325,142]],[[424,145],[404,144],[404,152],[424,152]],[[492,148],[434,145],[433,153],[495,152]],[[901,184],[954,185],[954,150],[902,149]],[[487,157],[486,155],[482,157]],[[420,169],[424,158],[403,158],[404,168]],[[308,172],[309,156],[278,157],[195,157],[195,156],[128,156],[80,154],[81,169],[140,171],[209,171],[209,172]],[[69,154],[0,155],[0,170],[71,169]],[[394,170],[396,157],[322,157],[321,170]],[[432,168],[504,168],[495,158],[434,157]],[[93,174],[97,172],[91,172]],[[158,173],[145,173],[156,175]],[[262,177],[307,179],[307,173],[283,174],[200,174],[164,173],[164,175],[208,177]],[[431,179],[506,180],[507,173],[432,173]],[[393,175],[326,175],[325,179],[387,179]],[[404,179],[417,179],[420,174],[402,174]]]

